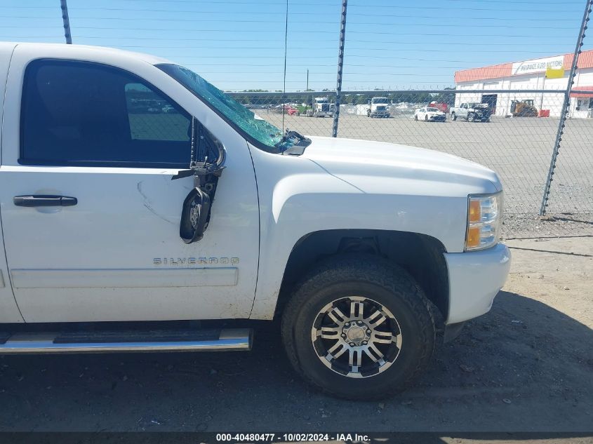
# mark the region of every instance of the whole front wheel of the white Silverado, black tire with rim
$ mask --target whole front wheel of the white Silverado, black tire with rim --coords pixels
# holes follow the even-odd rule
[[[282,339],[310,384],[348,399],[378,399],[413,382],[434,350],[422,289],[396,264],[371,255],[321,263],[295,287]]]

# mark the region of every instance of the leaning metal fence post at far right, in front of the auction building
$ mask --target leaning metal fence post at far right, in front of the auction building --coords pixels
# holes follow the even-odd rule
[[[546,207],[549,199],[549,189],[552,186],[554,169],[556,168],[558,151],[560,149],[560,142],[562,141],[564,127],[566,126],[566,116],[568,115],[568,108],[571,106],[571,91],[573,89],[573,85],[575,84],[575,74],[577,70],[578,56],[582,52],[582,40],[585,38],[585,31],[587,30],[587,25],[589,23],[589,15],[591,14],[592,6],[593,0],[587,0],[585,13],[582,15],[582,22],[580,24],[580,31],[578,34],[577,44],[575,47],[575,54],[573,56],[573,63],[571,65],[571,72],[570,74],[568,74],[568,85],[566,86],[566,91],[564,91],[564,104],[562,105],[560,121],[558,123],[558,132],[556,134],[556,141],[554,142],[554,149],[552,150],[552,160],[549,163],[549,170],[547,173],[544,195],[542,196],[542,205],[540,206],[540,216],[544,216],[546,213]]]

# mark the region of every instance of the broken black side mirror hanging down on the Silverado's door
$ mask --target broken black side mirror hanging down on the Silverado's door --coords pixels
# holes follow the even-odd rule
[[[179,171],[171,180],[194,177],[194,188],[183,201],[179,236],[185,243],[197,242],[204,237],[218,177],[225,168],[225,149],[213,134],[195,118],[191,127],[191,154],[189,170]]]

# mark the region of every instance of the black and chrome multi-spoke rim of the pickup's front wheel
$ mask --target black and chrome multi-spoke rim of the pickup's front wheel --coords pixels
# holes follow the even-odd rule
[[[368,297],[342,297],[319,310],[311,341],[319,360],[334,372],[373,377],[397,360],[401,329],[382,304]]]

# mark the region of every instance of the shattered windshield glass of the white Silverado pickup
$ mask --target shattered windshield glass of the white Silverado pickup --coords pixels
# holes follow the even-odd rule
[[[279,149],[279,151],[284,151],[293,145],[290,140],[283,140],[282,131],[279,128],[265,121],[251,109],[247,109],[190,69],[168,63],[156,65],[156,67],[204,100],[215,111],[222,114],[227,121],[234,123],[236,129],[248,135],[248,138],[265,144],[269,148]]]

